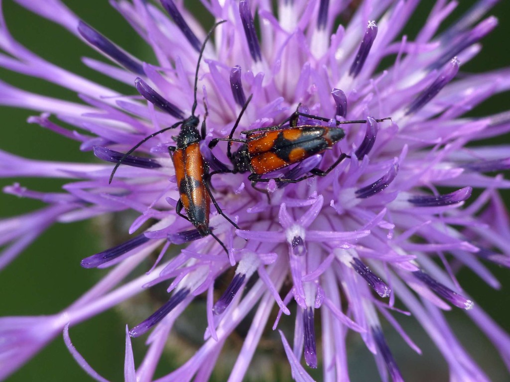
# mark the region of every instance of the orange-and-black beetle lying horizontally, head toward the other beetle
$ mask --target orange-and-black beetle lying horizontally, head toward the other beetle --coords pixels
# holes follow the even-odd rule
[[[326,176],[345,158],[349,157],[342,153],[335,162],[326,170],[313,168],[309,175],[304,175],[298,179],[284,177],[263,178],[263,175],[273,171],[281,170],[288,166],[294,165],[314,154],[321,154],[327,149],[341,141],[345,137],[345,131],[341,127],[328,127],[323,125],[299,125],[299,117],[315,119],[319,121],[329,122],[324,117],[313,116],[299,112],[299,106],[296,111],[282,123],[274,126],[256,128],[252,130],[241,131],[245,135],[245,139],[235,139],[236,131],[241,117],[251,100],[251,95],[243,105],[241,113],[234,124],[228,138],[214,138],[209,143],[209,148],[213,149],[220,141],[228,142],[227,157],[233,165],[233,169],[214,171],[209,176],[221,173],[246,173],[250,172],[248,180],[254,188],[258,182],[269,182],[275,180],[283,183],[297,183],[312,176]],[[391,118],[382,118],[375,120],[382,122]],[[352,121],[336,121],[336,125],[351,123],[366,123],[367,120]],[[285,126],[289,123],[288,126]],[[232,152],[232,144],[234,142],[241,143],[241,147]],[[260,188],[257,188],[262,190]],[[264,190],[265,192],[265,190]]]

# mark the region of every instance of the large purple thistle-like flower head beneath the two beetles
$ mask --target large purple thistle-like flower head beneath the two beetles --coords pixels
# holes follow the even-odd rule
[[[146,62],[60,0],[15,1],[103,54],[104,61],[84,63],[132,86],[132,92],[120,94],[47,62],[16,41],[2,17],[0,66],[52,81],[81,101],[0,82],[0,104],[41,113],[29,122],[78,141],[101,162],[0,152],[2,177],[69,181],[58,193],[18,183],[4,188],[46,206],[0,221],[0,267],[56,222],[125,210],[137,216],[129,222],[131,239],[82,259],[84,268],[114,267],[72,305],[50,316],[0,319],[0,379],[63,333],[82,368],[105,380],[72,345],[69,328],[157,284],[167,287],[165,301],[139,321],[126,318],[125,380],[154,380],[174,324],[198,309],[207,326],[194,332],[203,333],[203,340],[196,351],[180,354],[187,358],[159,382],[206,381],[225,362],[230,382],[259,376],[251,365],[263,336],[277,340],[265,359],[267,380],[274,379],[274,369],[281,370],[276,360],[285,354],[288,373],[297,381],[312,381],[313,368],[321,369],[318,380],[348,381],[348,339],[356,338],[373,354],[382,380],[389,375],[401,381],[406,375],[385,333],[395,330],[411,349],[421,350],[394,317],[400,315],[412,315],[422,326],[451,380],[487,381],[446,321],[443,311],[457,308],[467,311],[510,369],[510,337],[455,277],[465,266],[497,288],[486,264],[510,267],[510,222],[499,194],[510,188],[500,174],[510,168],[509,149],[481,142],[507,133],[510,113],[464,116],[510,89],[510,68],[481,74],[462,68],[497,24],[484,16],[494,0],[479,0],[446,25],[454,3],[438,1],[414,40],[401,34],[418,0],[365,0],[356,9],[347,2],[280,0],[277,14],[271,2],[204,1],[216,21],[226,22],[205,46],[196,105],[194,72],[210,26],[200,26],[183,2],[112,2],[154,51],[155,61]],[[383,59],[391,64],[381,70]],[[322,157],[265,174],[279,180],[254,188],[249,172],[232,170],[224,142],[212,151],[207,146],[213,138],[228,137],[244,106],[237,131],[277,125],[299,110],[309,116],[298,124],[329,129],[341,124],[345,138]],[[175,145],[183,119],[197,116],[201,124],[206,113],[202,155],[218,173],[211,193],[233,222],[211,208],[210,232],[202,237],[206,230],[198,232],[177,213],[184,201],[168,146]],[[344,124],[351,120],[363,122]],[[175,130],[167,129],[174,124]],[[136,153],[123,156],[152,134]],[[243,135],[236,132],[234,138]],[[235,142],[232,149],[240,147],[242,142]],[[342,154],[347,157],[326,171]],[[120,160],[109,184],[112,162]],[[307,175],[315,176],[282,180]],[[186,247],[168,254],[177,244]],[[150,257],[155,252],[156,261]],[[144,260],[152,263],[147,267]],[[234,332],[242,341],[231,357],[225,344]],[[132,342],[142,341],[137,337],[145,333],[147,351],[134,357]]]

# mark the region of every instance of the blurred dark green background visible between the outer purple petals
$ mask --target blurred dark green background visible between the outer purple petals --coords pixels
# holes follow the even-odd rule
[[[41,0],[42,1],[42,0]],[[81,43],[74,36],[43,18],[40,18],[7,0],[4,2],[7,24],[14,37],[25,46],[50,62],[66,69],[98,81],[126,94],[133,94],[132,88],[119,84],[91,69],[80,61],[81,57],[99,58],[99,55]],[[131,30],[106,0],[65,0],[75,13],[94,26],[101,33],[141,58],[150,57],[150,52],[141,39]],[[188,2],[189,3],[189,2]],[[193,2],[194,3],[194,2]],[[198,3],[198,2],[196,2]],[[416,17],[410,22],[406,33],[416,35],[423,24],[432,2],[424,1]],[[466,9],[472,2],[462,2],[460,9]],[[197,13],[203,12],[201,6]],[[454,13],[460,14],[460,10]],[[492,14],[500,19],[500,25],[494,33],[483,40],[483,50],[475,60],[463,66],[461,70],[481,72],[498,67],[508,66],[510,36],[510,2],[497,5]],[[201,13],[199,18],[208,19]],[[452,18],[450,18],[451,20]],[[209,20],[208,25],[211,24]],[[21,89],[36,93],[78,100],[72,92],[62,90],[45,81],[27,78],[0,70],[0,78]],[[487,115],[508,110],[508,94],[493,97],[478,107],[471,115]],[[37,113],[12,108],[1,108],[2,130],[0,132],[0,148],[8,152],[30,158],[57,161],[87,162],[93,160],[90,152],[80,152],[77,142],[69,141],[35,124],[28,124],[27,117]],[[0,186],[19,181],[21,185],[41,191],[58,191],[63,182],[47,179],[1,179]],[[18,199],[13,196],[0,195],[0,216],[8,217],[40,208],[41,203],[32,200]],[[88,290],[104,275],[101,270],[86,270],[80,267],[80,260],[93,253],[104,250],[101,240],[91,240],[96,231],[90,223],[74,223],[56,225],[46,231],[28,250],[25,250],[0,274],[0,316],[41,315],[59,312],[74,299]],[[489,312],[507,331],[510,330],[508,314],[510,313],[510,272],[506,269],[491,267],[503,284],[501,291],[493,291],[470,271],[461,271],[460,281],[475,301]],[[453,310],[448,314],[450,322],[461,341],[470,348],[473,357],[496,381],[508,381],[508,373],[491,350],[487,341],[474,328],[471,321],[464,318],[463,312]],[[110,380],[122,380],[124,358],[124,325],[125,319],[114,311],[108,311],[96,318],[71,329],[73,342],[87,361],[101,375]],[[393,331],[388,340],[395,353],[402,373],[414,380],[434,379],[436,372],[444,374],[444,362],[432,352],[433,345],[428,344],[422,330],[416,329],[413,320],[403,320],[404,327],[415,338],[426,353],[420,358],[397,338]],[[143,341],[135,344],[135,362],[138,364],[143,355]],[[359,341],[351,341],[350,375],[353,381],[372,380],[375,364],[370,354]],[[162,365],[161,372],[169,372],[169,365]],[[8,380],[55,381],[70,380],[74,382],[89,381],[81,368],[74,362],[65,348],[62,338],[57,338],[42,350],[27,365],[13,374]],[[320,378],[318,379],[320,380]],[[446,379],[444,379],[446,380]]]

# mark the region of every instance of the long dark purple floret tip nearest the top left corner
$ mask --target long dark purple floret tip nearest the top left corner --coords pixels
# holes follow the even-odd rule
[[[101,35],[90,25],[86,24],[82,20],[78,23],[78,32],[87,42],[97,49],[105,53],[110,58],[117,61],[127,70],[132,71],[138,75],[145,75],[143,66],[140,62],[129,57],[125,52],[120,50],[113,42],[108,40],[105,36]]]

